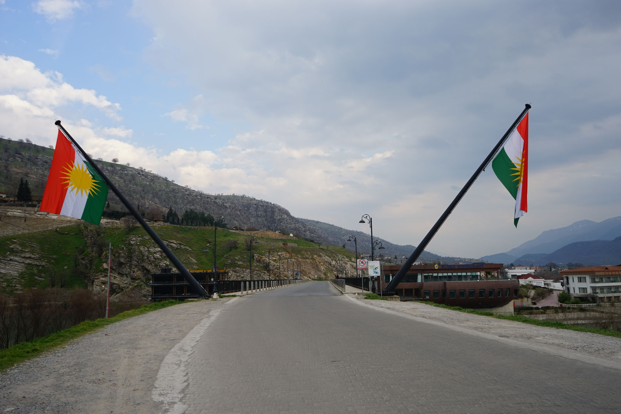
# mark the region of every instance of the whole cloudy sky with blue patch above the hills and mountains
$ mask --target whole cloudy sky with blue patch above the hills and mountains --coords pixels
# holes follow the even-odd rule
[[[528,214],[491,168],[428,250],[621,214],[618,1],[0,0],[0,134],[417,245],[530,103]]]

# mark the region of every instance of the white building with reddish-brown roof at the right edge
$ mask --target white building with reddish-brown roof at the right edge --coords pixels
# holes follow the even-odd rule
[[[561,271],[565,292],[572,297],[597,297],[597,302],[621,302],[621,266],[588,266]]]

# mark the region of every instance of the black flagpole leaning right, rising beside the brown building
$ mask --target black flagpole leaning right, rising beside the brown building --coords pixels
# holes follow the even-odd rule
[[[409,269],[412,267],[412,263],[414,263],[416,259],[419,258],[421,253],[423,253],[423,251],[425,250],[425,247],[427,247],[429,242],[432,240],[433,236],[435,236],[435,233],[437,233],[438,230],[440,230],[440,227],[442,227],[442,225],[446,221],[446,218],[448,218],[451,212],[453,212],[453,209],[455,209],[456,205],[460,202],[460,200],[463,198],[466,192],[470,189],[474,181],[476,181],[476,179],[479,177],[479,174],[481,174],[481,171],[483,171],[487,167],[487,164],[489,164],[492,158],[494,158],[494,155],[496,155],[498,150],[500,150],[501,146],[504,144],[505,140],[507,140],[510,133],[513,132],[515,127],[517,127],[517,125],[520,123],[520,120],[524,118],[524,115],[526,115],[526,113],[528,112],[528,109],[530,109],[530,105],[526,104],[524,110],[522,111],[522,114],[520,114],[520,116],[517,117],[513,125],[511,125],[511,127],[507,130],[507,132],[505,132],[505,135],[502,135],[501,140],[496,144],[496,146],[494,146],[494,149],[491,151],[491,153],[487,155],[487,158],[485,159],[485,161],[483,161],[483,163],[481,163],[479,168],[476,169],[474,174],[472,174],[468,182],[466,182],[466,185],[461,189],[459,194],[457,194],[453,202],[451,202],[451,204],[448,206],[445,212],[440,216],[440,218],[438,218],[438,221],[435,222],[435,224],[433,225],[431,230],[429,230],[425,238],[422,241],[420,241],[420,244],[416,247],[416,249],[412,252],[412,254],[410,254],[410,257],[407,258],[406,263],[404,263],[403,266],[401,266],[401,269],[399,269],[397,274],[392,278],[392,281],[390,281],[389,284],[386,285],[386,288],[384,289],[384,294],[392,292],[392,290],[394,290],[394,288],[399,284],[399,282],[401,282],[401,279],[403,279],[403,277],[406,276],[407,271],[409,271]]]

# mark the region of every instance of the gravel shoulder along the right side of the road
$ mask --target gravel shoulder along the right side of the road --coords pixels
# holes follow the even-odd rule
[[[448,326],[458,326],[470,331],[522,343],[536,344],[548,348],[570,351],[584,356],[621,362],[621,339],[596,333],[548,328],[527,323],[502,320],[471,313],[437,308],[417,302],[389,302],[388,300],[366,300],[348,295],[351,300],[361,304],[391,310],[402,315],[439,322]]]

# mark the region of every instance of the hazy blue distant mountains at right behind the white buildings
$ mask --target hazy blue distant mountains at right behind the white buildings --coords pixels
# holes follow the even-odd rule
[[[504,264],[545,264],[579,262],[585,265],[621,263],[621,249],[615,243],[621,236],[621,216],[602,222],[581,220],[567,227],[542,232],[533,240],[505,253],[483,256],[484,261]],[[588,242],[588,243],[587,243]],[[617,264],[617,263],[614,263]]]

